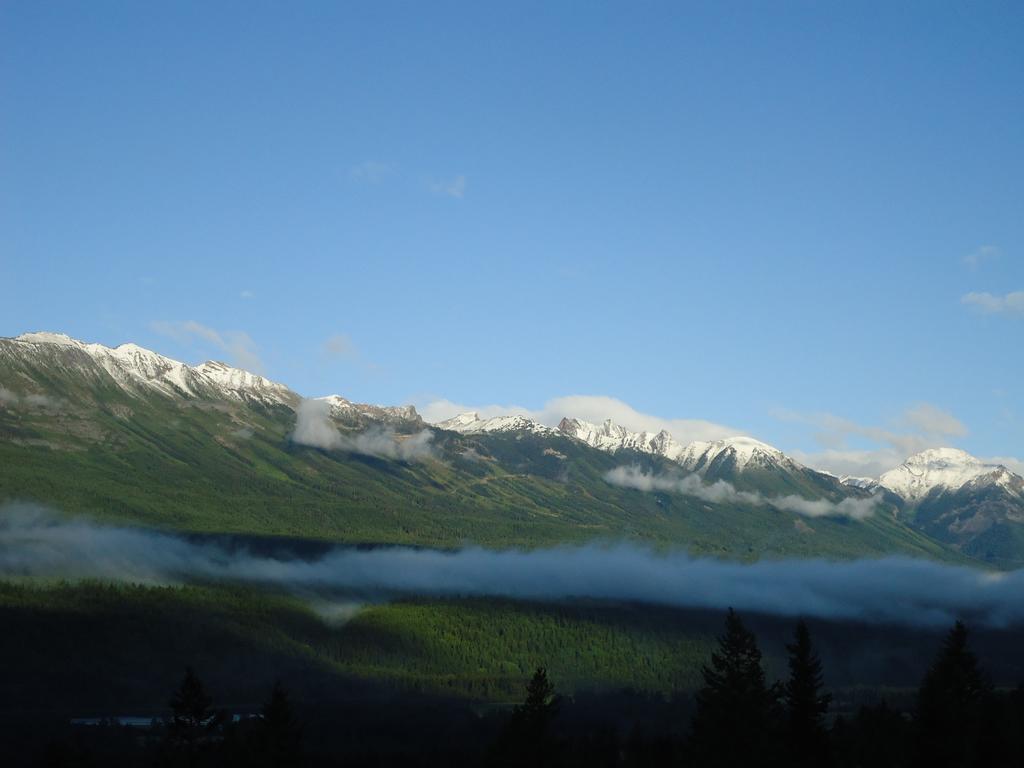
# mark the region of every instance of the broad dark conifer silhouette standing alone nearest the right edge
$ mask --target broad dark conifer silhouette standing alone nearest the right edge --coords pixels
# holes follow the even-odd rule
[[[919,764],[930,768],[985,765],[990,694],[968,645],[967,627],[956,622],[918,692]]]

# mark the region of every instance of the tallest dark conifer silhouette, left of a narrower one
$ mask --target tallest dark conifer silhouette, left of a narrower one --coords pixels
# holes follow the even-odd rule
[[[765,684],[757,638],[729,608],[711,666],[701,669],[690,737],[701,766],[764,766],[774,762],[777,691]]]

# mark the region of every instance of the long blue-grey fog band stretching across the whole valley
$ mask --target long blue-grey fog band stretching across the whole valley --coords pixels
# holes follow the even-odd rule
[[[169,534],[0,507],[0,578],[188,580],[270,584],[307,596],[357,593],[608,598],[778,615],[992,626],[1024,621],[1024,571],[992,572],[889,557],[741,564],[657,554],[633,545],[456,552],[337,547],[302,558],[268,556]]]

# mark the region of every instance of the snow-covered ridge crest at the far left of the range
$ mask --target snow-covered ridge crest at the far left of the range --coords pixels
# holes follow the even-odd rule
[[[137,344],[108,347],[88,344],[65,334],[27,333],[3,339],[0,355],[45,362],[65,372],[95,378],[95,367],[129,394],[156,392],[166,396],[221,396],[267,404],[293,404],[297,395],[284,384],[210,360],[187,366]]]

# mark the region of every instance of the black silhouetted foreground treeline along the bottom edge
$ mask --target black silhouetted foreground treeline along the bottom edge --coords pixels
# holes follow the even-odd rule
[[[520,705],[418,698],[294,703],[279,683],[256,713],[229,716],[188,670],[170,715],[51,734],[26,765],[481,766],[481,768],[982,768],[1024,765],[1024,688],[987,679],[956,623],[910,707],[834,715],[825,670],[797,624],[769,682],[758,638],[732,610],[691,696],[561,696],[545,668]],[[9,753],[8,753],[9,754]],[[14,763],[12,763],[14,764]]]

